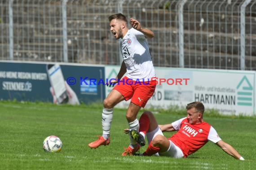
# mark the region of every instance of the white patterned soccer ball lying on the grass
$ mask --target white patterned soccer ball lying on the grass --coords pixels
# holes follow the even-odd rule
[[[57,136],[48,136],[43,143],[45,152],[60,152],[62,150],[62,141]]]

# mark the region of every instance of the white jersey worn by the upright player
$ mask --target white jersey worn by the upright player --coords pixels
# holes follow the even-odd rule
[[[139,81],[151,81],[155,77],[149,46],[144,34],[131,28],[120,44],[127,77]]]

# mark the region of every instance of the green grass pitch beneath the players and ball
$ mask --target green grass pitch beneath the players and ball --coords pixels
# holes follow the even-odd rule
[[[212,124],[219,136],[246,159],[239,161],[208,142],[185,159],[170,157],[122,157],[129,137],[126,110],[115,109],[111,142],[98,149],[88,143],[102,135],[102,106],[57,106],[41,102],[0,102],[0,169],[54,170],[253,170],[256,167],[256,117],[220,116],[206,111],[204,120]],[[140,111],[139,116],[143,110]],[[180,119],[184,110],[161,110],[155,114],[159,124]],[[60,153],[45,153],[47,136],[60,137]],[[172,133],[165,133],[171,136]],[[141,148],[141,152],[146,146]]]

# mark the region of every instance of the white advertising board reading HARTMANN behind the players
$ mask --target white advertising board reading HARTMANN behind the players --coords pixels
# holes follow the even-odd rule
[[[115,78],[119,66],[106,66],[106,78]],[[225,115],[255,115],[256,72],[240,70],[155,67],[158,77],[154,95],[146,108],[186,106],[200,101],[206,109]],[[106,95],[112,88],[106,87]],[[128,102],[118,107],[127,107]]]

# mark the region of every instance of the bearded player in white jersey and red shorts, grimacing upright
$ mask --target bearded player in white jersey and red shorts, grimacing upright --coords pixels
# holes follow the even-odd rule
[[[131,18],[131,29],[128,29],[126,17],[117,13],[109,17],[110,31],[115,39],[121,38],[120,50],[123,54],[123,63],[115,80],[116,84],[103,102],[102,136],[88,144],[90,148],[110,144],[110,125],[113,117],[113,107],[123,100],[131,99],[126,112],[126,119],[130,129],[139,129],[137,114],[141,107],[154,94],[156,81],[147,38],[153,38],[154,33],[142,28],[139,21]],[[127,75],[124,74],[127,72]],[[124,76],[123,79],[121,79]],[[123,156],[132,155],[140,149],[140,144],[130,137],[130,145],[125,149]]]

